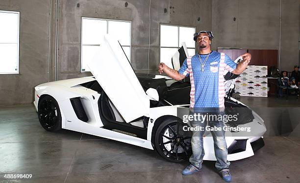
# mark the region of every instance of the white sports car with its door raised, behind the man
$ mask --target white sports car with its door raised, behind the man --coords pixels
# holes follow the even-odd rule
[[[187,160],[192,153],[191,137],[178,135],[182,120],[177,117],[177,108],[189,107],[190,82],[137,76],[118,41],[105,35],[102,42],[88,64],[93,77],[35,87],[34,105],[41,125],[48,131],[64,128],[153,149],[172,162]],[[184,46],[178,52],[182,49],[187,55]],[[179,61],[177,56],[173,57],[173,65],[178,69],[182,57]],[[254,111],[229,97],[235,78],[230,73],[225,75],[225,106],[244,110],[230,125],[250,126],[253,130],[247,137],[239,131],[226,131],[228,161],[254,155],[253,151],[264,145],[262,135],[266,131],[264,121]],[[203,145],[203,159],[216,160],[210,134],[204,137]]]

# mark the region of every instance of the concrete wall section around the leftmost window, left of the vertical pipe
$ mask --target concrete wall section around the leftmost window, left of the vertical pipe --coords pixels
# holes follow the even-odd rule
[[[48,0],[0,0],[20,12],[20,74],[0,75],[0,105],[33,101],[33,87],[48,81]]]

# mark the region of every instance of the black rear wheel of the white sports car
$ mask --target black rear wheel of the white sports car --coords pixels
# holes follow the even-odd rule
[[[50,95],[41,96],[38,103],[38,117],[41,125],[47,131],[61,129],[61,113],[56,100]]]

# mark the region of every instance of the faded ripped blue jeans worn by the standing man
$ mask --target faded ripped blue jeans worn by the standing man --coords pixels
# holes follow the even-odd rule
[[[195,113],[190,111],[190,115],[194,115]],[[196,113],[198,114],[198,113]],[[207,114],[207,113],[200,113],[200,114]],[[224,115],[224,112],[217,112],[217,113],[212,113],[216,115]],[[207,120],[204,122],[199,122],[199,121],[189,121],[190,126],[196,127],[200,126],[202,127],[203,130],[201,131],[193,131],[193,136],[192,136],[192,151],[193,155],[190,157],[190,163],[193,165],[201,168],[202,167],[202,162],[203,162],[203,157],[204,157],[204,149],[203,149],[203,135],[205,132],[205,126],[207,124]],[[230,162],[227,161],[227,145],[225,141],[225,131],[223,130],[223,126],[225,125],[223,121],[218,121],[218,120],[210,120],[208,121],[208,125],[210,127],[221,127],[221,131],[211,131],[210,133],[212,134],[213,140],[214,140],[214,150],[215,150],[215,156],[217,159],[217,162],[215,163],[215,167],[217,168],[218,171],[222,169],[226,169],[229,167]]]

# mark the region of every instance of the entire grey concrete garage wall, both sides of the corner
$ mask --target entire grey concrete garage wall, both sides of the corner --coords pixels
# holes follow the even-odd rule
[[[33,87],[40,83],[91,75],[80,73],[81,17],[131,20],[131,64],[137,72],[156,73],[160,23],[212,30],[215,50],[279,50],[280,42],[281,68],[291,70],[299,63],[299,4],[300,0],[1,0],[0,10],[20,11],[20,74],[0,75],[0,105],[32,102]]]

